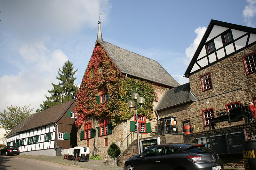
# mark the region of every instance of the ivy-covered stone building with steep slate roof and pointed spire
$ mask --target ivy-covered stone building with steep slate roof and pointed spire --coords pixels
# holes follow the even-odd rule
[[[137,139],[135,116],[127,107],[133,92],[146,100],[141,113],[138,108],[139,135],[152,136],[158,101],[166,89],[179,85],[158,62],[103,41],[99,21],[96,45],[77,93],[78,146],[108,159],[112,142],[124,150]]]

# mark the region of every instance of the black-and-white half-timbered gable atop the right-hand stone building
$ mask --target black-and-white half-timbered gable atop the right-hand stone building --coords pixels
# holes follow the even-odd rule
[[[230,33],[232,41],[225,44],[223,35]],[[207,44],[213,42],[215,50],[208,53]],[[256,29],[230,24],[227,22],[211,20],[196,52],[188,65],[185,77],[196,73],[210,65],[219,62],[256,44]]]

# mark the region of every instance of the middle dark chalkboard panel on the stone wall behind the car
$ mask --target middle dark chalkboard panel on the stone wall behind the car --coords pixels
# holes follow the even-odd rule
[[[210,136],[212,150],[217,153],[228,153],[225,134]]]

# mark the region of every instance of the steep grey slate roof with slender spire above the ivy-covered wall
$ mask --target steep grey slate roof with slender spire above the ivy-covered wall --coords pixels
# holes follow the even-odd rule
[[[116,67],[123,73],[130,76],[142,78],[162,85],[176,87],[180,84],[155,60],[133,53],[124,48],[117,47],[103,41],[99,24],[97,41],[108,53],[109,57],[116,64]]]

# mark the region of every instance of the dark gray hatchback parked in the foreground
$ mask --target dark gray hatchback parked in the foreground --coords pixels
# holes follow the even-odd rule
[[[159,144],[124,162],[124,170],[224,170],[219,155],[204,144]]]

